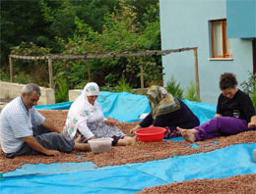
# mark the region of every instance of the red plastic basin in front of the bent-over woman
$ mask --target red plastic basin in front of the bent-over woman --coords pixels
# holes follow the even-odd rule
[[[139,141],[151,142],[151,141],[162,141],[164,132],[166,131],[163,127],[146,127],[139,128],[135,131]]]

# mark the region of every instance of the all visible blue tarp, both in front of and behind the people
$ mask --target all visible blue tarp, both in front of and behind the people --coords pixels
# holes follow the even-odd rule
[[[149,102],[143,95],[100,92],[97,102],[105,117],[119,121],[139,121],[141,114],[150,112]],[[210,120],[216,113],[215,105],[188,100],[184,102],[201,123]],[[72,102],[36,106],[36,109],[69,109],[71,104]],[[172,140],[184,139],[177,137]],[[217,141],[214,143],[218,144]],[[197,146],[192,145],[192,147]],[[4,178],[0,180],[1,194],[135,193],[146,187],[174,181],[256,173],[256,164],[253,162],[254,149],[256,143],[238,144],[208,153],[97,169],[91,162],[26,164],[22,169],[3,174]]]

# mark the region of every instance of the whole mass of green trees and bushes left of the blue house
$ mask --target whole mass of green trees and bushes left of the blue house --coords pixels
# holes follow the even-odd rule
[[[20,55],[118,54],[160,49],[158,0],[14,0],[1,1],[1,6],[1,62],[7,59],[6,65],[11,47],[13,54]],[[40,75],[47,72],[46,61],[38,61],[36,66],[25,60],[14,63],[16,76],[26,70],[26,74],[36,76],[33,81],[37,84],[47,84],[47,74]],[[122,73],[131,87],[140,87],[139,65],[144,67],[146,87],[161,84],[160,56],[142,61],[138,57],[90,60],[92,78],[99,86],[117,85]],[[54,80],[65,77],[70,88],[83,88],[89,79],[85,60],[54,61],[53,69]]]

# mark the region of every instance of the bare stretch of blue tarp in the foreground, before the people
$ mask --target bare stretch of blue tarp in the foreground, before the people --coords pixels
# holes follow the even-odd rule
[[[96,168],[91,162],[24,165],[4,173],[5,193],[135,193],[150,186],[174,181],[224,178],[256,173],[256,143],[237,144],[186,156],[147,163]],[[147,156],[145,156],[147,157]]]

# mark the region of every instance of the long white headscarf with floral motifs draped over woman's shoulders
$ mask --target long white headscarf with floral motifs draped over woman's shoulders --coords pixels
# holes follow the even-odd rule
[[[95,82],[89,82],[84,87],[82,94],[71,105],[68,118],[64,126],[64,128],[67,128],[71,138],[74,138],[76,135],[79,124],[82,121],[87,121],[94,115],[96,109],[99,108],[97,102],[92,105],[88,101],[88,96],[98,96],[98,94],[98,85]]]

